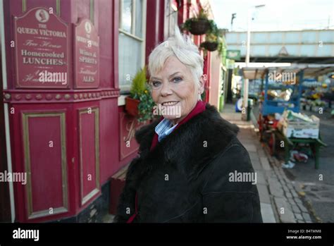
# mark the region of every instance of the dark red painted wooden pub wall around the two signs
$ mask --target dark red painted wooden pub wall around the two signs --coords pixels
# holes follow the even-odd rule
[[[90,18],[94,11],[94,25],[100,36],[99,58],[99,88],[97,90],[74,90],[73,83],[69,90],[18,90],[14,87],[15,49],[10,47],[13,40],[13,18],[21,16],[23,1],[5,0],[5,35],[8,90],[10,98],[6,100],[9,108],[15,109],[10,114],[11,123],[11,150],[13,171],[27,172],[25,166],[27,153],[23,144],[23,135],[29,134],[31,191],[27,186],[15,183],[16,214],[18,221],[49,221],[78,214],[85,209],[100,194],[101,185],[106,183],[122,163],[119,161],[119,125],[118,125],[118,1],[94,1],[94,10],[89,0],[60,1],[60,17],[74,25],[79,18]],[[44,6],[53,8],[56,13],[56,0],[26,1],[26,11],[31,8]],[[117,10],[117,11],[116,11]],[[72,47],[70,47],[72,49]],[[102,52],[101,52],[102,51]],[[69,64],[73,69],[73,64]],[[70,78],[73,80],[73,77]],[[40,101],[35,99],[42,95]],[[65,99],[69,97],[69,99]],[[58,101],[58,103],[56,103]],[[82,109],[99,110],[98,137],[94,134],[95,114],[79,113]],[[28,219],[28,195],[31,192],[32,207],[34,211],[56,208],[66,199],[62,187],[60,128],[58,118],[32,118],[29,128],[23,128],[25,112],[51,113],[65,112],[66,128],[66,187],[68,212],[41,216],[37,219]],[[80,116],[80,117],[79,117]],[[80,121],[81,119],[81,121]],[[31,121],[31,122],[30,122]],[[80,123],[81,122],[81,123]],[[81,130],[80,130],[81,128]],[[93,128],[93,129],[92,129]],[[81,137],[81,138],[80,138]],[[96,138],[97,137],[97,138]],[[55,147],[48,151],[45,142],[54,138]],[[80,142],[81,140],[81,142]],[[99,141],[99,149],[95,154],[94,147]],[[80,161],[80,149],[83,149]],[[99,156],[99,161],[96,161]],[[98,167],[98,168],[97,168]],[[98,169],[98,170],[97,170]],[[92,175],[87,180],[88,174]],[[98,175],[99,174],[99,175]],[[96,181],[99,184],[96,185]],[[44,184],[44,186],[43,186]],[[97,186],[99,192],[95,193],[85,204],[82,198]],[[48,198],[49,197],[49,198]],[[47,200],[46,200],[47,198]]]

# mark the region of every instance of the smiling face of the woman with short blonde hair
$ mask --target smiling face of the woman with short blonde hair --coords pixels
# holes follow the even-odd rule
[[[190,69],[175,56],[167,59],[159,73],[151,75],[150,85],[152,98],[160,106],[161,115],[174,124],[194,109],[199,94],[204,90],[203,76],[197,87]]]

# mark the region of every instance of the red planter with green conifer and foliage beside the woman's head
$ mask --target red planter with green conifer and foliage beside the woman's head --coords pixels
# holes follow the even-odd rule
[[[146,67],[139,70],[132,80],[130,96],[125,97],[125,110],[138,118],[139,122],[153,118],[154,101],[147,86]]]

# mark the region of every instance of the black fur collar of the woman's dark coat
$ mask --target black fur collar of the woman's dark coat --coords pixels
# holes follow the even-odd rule
[[[206,104],[206,110],[197,114],[165,137],[149,151],[154,137],[155,121],[140,128],[135,134],[140,144],[140,156],[145,159],[142,172],[147,173],[160,165],[183,167],[187,175],[197,176],[202,168],[223,152],[237,135],[237,125],[221,118],[216,107]]]

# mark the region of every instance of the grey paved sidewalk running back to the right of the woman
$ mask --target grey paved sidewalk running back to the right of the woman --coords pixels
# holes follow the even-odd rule
[[[254,115],[251,115],[252,121],[241,121],[241,113],[235,112],[235,106],[225,104],[221,116],[240,128],[238,139],[249,152],[257,173],[257,189],[264,223],[316,222],[302,199],[302,191],[287,178],[281,162],[270,156],[266,146],[259,141]]]

